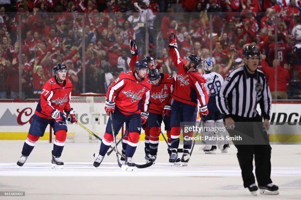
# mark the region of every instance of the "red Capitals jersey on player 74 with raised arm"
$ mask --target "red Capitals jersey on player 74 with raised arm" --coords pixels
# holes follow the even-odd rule
[[[199,99],[201,106],[207,105],[208,94],[204,76],[197,71],[187,72],[186,61],[180,57],[177,49],[169,47],[169,54],[178,68],[172,98],[194,106],[197,106],[197,99]]]

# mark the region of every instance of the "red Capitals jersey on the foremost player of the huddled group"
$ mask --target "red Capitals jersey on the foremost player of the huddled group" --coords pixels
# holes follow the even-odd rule
[[[148,79],[137,81],[132,72],[124,72],[110,85],[107,100],[113,101],[124,115],[147,112],[151,82]]]

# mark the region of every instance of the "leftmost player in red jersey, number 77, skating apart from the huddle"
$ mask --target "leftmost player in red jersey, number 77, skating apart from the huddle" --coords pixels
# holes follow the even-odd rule
[[[17,162],[18,169],[25,163],[39,137],[44,136],[48,124],[53,128],[55,134],[51,160],[52,168],[61,169],[64,166],[60,157],[67,136],[66,117],[67,121],[73,123],[76,121],[76,114],[69,104],[72,83],[69,79],[66,79],[68,74],[67,67],[64,64],[56,64],[53,72],[54,77],[43,85],[42,94],[30,124],[28,136],[23,145],[22,156]],[[64,111],[67,116],[64,115]]]

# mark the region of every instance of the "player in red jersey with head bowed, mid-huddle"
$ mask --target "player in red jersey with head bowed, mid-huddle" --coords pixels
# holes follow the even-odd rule
[[[161,123],[165,124],[165,130],[168,137],[168,151],[170,151],[170,112],[171,112],[171,96],[175,79],[169,75],[160,73],[158,69],[151,69],[148,74],[151,86],[151,98],[148,107],[149,116],[147,119],[147,127],[144,128],[149,133],[149,153],[148,161],[155,162],[157,159],[157,151],[159,145],[159,136],[161,133]],[[145,143],[147,144],[147,143]],[[180,160],[178,160],[179,163]]]

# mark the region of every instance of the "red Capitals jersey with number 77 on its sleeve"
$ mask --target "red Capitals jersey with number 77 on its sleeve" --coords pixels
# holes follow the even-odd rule
[[[60,112],[70,111],[70,98],[72,83],[65,79],[62,84],[56,82],[52,77],[42,87],[42,93],[35,114],[46,119],[52,119],[51,113],[54,109]]]

